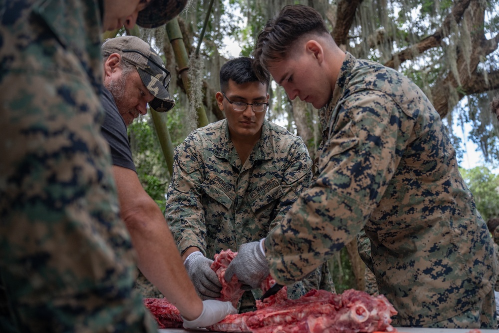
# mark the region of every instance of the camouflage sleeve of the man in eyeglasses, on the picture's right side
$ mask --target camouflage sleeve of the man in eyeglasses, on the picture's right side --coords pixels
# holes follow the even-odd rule
[[[283,170],[281,182],[284,194],[279,199],[275,218],[270,223],[269,230],[281,223],[291,205],[308,188],[312,179],[312,160],[308,155],[307,147],[301,139],[295,141],[294,149],[290,149],[283,160],[287,163],[287,168]]]

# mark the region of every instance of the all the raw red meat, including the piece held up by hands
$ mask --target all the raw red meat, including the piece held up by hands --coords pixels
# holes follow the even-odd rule
[[[223,285],[221,300],[231,301],[235,306],[243,294],[241,284],[235,277],[231,283],[226,283],[224,275],[236,254],[224,251],[215,256],[212,265]],[[261,288],[265,291],[274,282],[269,276]],[[178,310],[164,299],[144,299],[144,304],[160,328],[182,327]],[[288,300],[284,287],[263,302],[257,301],[256,307],[253,312],[229,315],[208,329],[254,333],[391,332],[394,329],[390,317],[397,314],[384,296],[373,297],[356,290],[347,290],[341,295],[311,290],[298,300]]]

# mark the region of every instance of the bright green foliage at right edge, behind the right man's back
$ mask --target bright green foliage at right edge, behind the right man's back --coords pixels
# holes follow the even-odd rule
[[[486,167],[460,171],[484,220],[499,218],[499,175]]]

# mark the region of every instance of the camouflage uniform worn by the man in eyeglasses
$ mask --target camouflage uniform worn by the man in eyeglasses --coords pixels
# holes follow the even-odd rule
[[[207,258],[264,238],[277,226],[311,179],[310,156],[303,141],[267,120],[260,140],[243,165],[229,137],[227,120],[192,132],[175,149],[165,217],[179,251],[198,247]],[[310,284],[318,288],[314,272]],[[314,282],[316,281],[316,282]],[[260,290],[243,298],[254,307]],[[288,286],[289,297],[305,293]]]

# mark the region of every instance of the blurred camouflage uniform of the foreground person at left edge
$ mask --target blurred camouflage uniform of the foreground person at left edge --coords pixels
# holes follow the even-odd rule
[[[1,0],[0,20],[0,331],[157,332],[100,135],[97,0]]]

